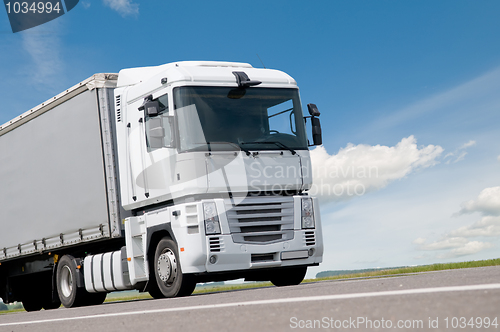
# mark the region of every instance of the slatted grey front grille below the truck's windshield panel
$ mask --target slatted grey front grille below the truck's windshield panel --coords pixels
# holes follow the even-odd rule
[[[248,197],[225,201],[235,243],[269,244],[293,239],[293,197]]]

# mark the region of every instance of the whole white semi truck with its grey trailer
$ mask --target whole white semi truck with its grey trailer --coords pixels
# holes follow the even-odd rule
[[[299,284],[323,255],[308,110],[281,71],[188,61],[96,74],[0,126],[0,297]]]

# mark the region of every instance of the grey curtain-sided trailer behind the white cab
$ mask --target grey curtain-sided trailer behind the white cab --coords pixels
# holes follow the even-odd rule
[[[57,296],[39,290],[51,288],[41,283],[51,285],[61,254],[123,246],[121,220],[129,214],[120,208],[116,180],[116,79],[96,74],[0,126],[4,302],[58,307]]]

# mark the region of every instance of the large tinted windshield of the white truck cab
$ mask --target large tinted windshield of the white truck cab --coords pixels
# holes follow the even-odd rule
[[[180,87],[181,151],[307,149],[297,89]]]

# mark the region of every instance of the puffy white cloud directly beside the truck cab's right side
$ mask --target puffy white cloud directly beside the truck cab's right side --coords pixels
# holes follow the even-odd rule
[[[392,147],[348,144],[334,155],[320,146],[311,151],[311,194],[323,201],[361,196],[417,169],[435,165],[442,152],[443,148],[435,145],[419,148],[413,136]]]

